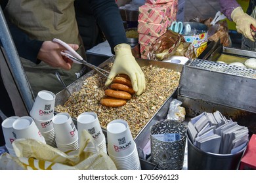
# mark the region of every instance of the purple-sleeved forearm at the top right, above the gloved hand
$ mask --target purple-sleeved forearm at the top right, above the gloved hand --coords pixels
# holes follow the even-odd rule
[[[221,12],[228,18],[228,20],[232,21],[230,15],[235,8],[240,7],[238,2],[236,2],[236,0],[219,0],[219,4],[221,6]]]

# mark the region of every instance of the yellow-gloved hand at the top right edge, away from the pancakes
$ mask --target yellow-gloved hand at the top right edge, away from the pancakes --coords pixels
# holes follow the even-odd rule
[[[254,42],[255,32],[251,32],[251,25],[256,27],[256,20],[246,14],[241,7],[235,8],[230,17],[236,23],[238,33],[242,33],[244,37]]]

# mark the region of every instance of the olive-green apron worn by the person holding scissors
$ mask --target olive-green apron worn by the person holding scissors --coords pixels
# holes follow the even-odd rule
[[[4,12],[5,16],[25,31],[31,39],[52,41],[57,38],[67,43],[79,44],[81,48],[77,52],[85,58],[85,50],[75,20],[74,0],[11,0]],[[53,68],[43,61],[36,65],[23,58],[22,65],[35,95],[40,90],[49,90],[53,93],[63,90],[63,86],[54,75],[56,71],[60,73],[67,86],[85,71],[83,65],[75,63],[70,71],[66,71]]]

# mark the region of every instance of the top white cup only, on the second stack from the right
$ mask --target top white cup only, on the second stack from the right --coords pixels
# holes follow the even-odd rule
[[[95,139],[97,144],[104,141],[104,135],[100,122],[98,121],[98,116],[95,112],[83,112],[77,116],[77,130],[78,134],[81,134],[81,131],[86,129]]]

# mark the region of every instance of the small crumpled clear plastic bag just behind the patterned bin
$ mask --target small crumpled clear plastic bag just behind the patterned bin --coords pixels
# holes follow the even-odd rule
[[[181,105],[181,101],[173,99],[169,105],[167,119],[176,122],[183,122],[185,120],[186,110],[184,107],[181,107]]]

